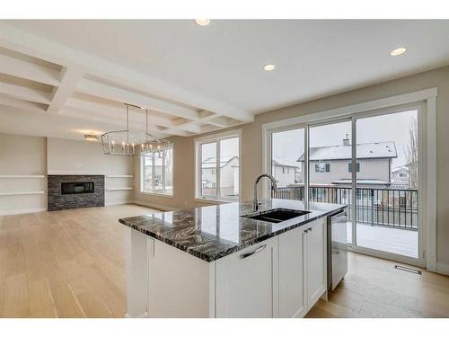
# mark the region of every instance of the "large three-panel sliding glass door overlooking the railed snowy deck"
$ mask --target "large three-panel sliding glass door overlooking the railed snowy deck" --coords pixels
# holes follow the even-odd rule
[[[347,205],[350,249],[423,265],[420,120],[404,108],[271,132],[273,197]]]

